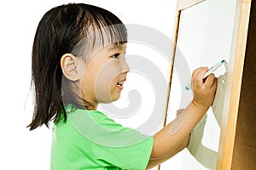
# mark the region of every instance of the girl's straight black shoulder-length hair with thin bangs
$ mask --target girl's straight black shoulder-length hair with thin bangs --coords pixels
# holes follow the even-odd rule
[[[61,116],[66,122],[65,105],[79,105],[68,83],[63,83],[67,82],[67,78],[62,75],[61,57],[63,54],[81,56],[86,53],[86,46],[96,43],[86,41],[86,37],[101,29],[107,32],[108,41],[127,42],[125,25],[106,9],[84,3],[68,3],[51,8],[44,14],[32,46],[35,99],[32,122],[27,126],[30,130],[44,124],[49,127],[49,122],[58,122]],[[104,38],[102,35],[102,42]],[[84,101],[84,106],[88,108],[90,103]]]

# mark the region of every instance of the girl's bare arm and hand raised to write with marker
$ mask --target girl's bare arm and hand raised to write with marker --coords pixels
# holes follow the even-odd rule
[[[177,118],[154,135],[154,145],[148,167],[154,167],[183,150],[189,143],[189,134],[212,105],[216,78],[203,77],[207,68],[198,68],[192,74],[193,100]]]

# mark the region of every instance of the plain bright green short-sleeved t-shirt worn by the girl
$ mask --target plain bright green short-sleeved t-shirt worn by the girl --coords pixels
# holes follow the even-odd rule
[[[53,127],[51,170],[145,169],[154,139],[122,127],[100,111],[66,106]]]

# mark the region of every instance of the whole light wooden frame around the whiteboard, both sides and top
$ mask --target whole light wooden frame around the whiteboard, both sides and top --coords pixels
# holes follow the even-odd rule
[[[170,65],[170,77],[167,88],[168,95],[170,95],[171,91],[172,71],[177,46],[180,14],[182,13],[183,9],[190,8],[195,4],[201,3],[203,1],[205,0],[177,0],[177,12],[173,33],[172,60]],[[221,124],[221,133],[218,148],[218,170],[229,170],[231,169],[232,164],[233,147],[236,136],[236,122],[241,92],[242,73],[247,44],[247,30],[250,16],[250,8],[251,0],[236,0],[236,12],[230,48],[230,66],[228,71],[229,77],[226,80],[227,82],[224,101],[224,113]],[[167,116],[168,104],[169,96],[166,99],[165,117]],[[164,120],[163,126],[166,126],[166,118]],[[160,166],[158,167],[158,169],[160,169]]]

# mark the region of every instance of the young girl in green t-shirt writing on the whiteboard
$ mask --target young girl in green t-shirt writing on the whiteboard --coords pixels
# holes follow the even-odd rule
[[[154,136],[96,111],[99,103],[119,99],[124,88],[126,42],[125,25],[103,8],[72,3],[44,14],[32,47],[35,106],[28,127],[54,122],[51,169],[151,168],[189,144],[215,94],[215,77],[203,81],[207,68],[193,72],[188,107]]]

